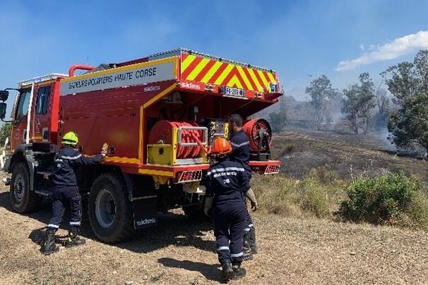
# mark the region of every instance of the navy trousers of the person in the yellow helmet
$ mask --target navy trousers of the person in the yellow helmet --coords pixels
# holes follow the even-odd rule
[[[65,207],[70,208],[70,227],[80,227],[82,219],[82,199],[78,187],[54,188],[54,201],[52,202],[52,219],[48,227],[58,229],[61,225]]]

